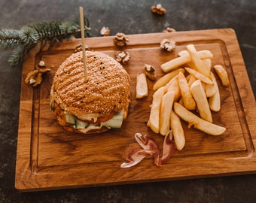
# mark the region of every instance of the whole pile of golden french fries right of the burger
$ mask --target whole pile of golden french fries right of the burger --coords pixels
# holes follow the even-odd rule
[[[209,135],[221,135],[226,128],[212,123],[212,111],[221,109],[221,97],[212,72],[213,55],[209,50],[197,51],[194,44],[163,63],[166,74],[154,83],[151,113],[147,125],[155,133],[166,135],[170,129],[177,150],[185,144],[181,120]],[[213,69],[223,86],[229,86],[227,71],[222,65]]]

